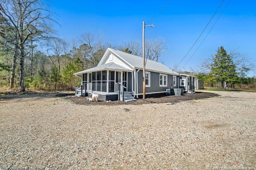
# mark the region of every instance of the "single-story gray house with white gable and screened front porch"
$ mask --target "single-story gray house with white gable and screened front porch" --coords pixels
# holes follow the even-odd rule
[[[93,92],[103,101],[122,100],[122,94],[125,100],[142,98],[142,70],[142,57],[108,48],[96,67],[74,73],[82,81],[81,87],[76,89],[76,96],[90,96]],[[173,88],[192,89],[191,86],[185,88],[184,84],[194,79],[183,78],[185,75],[164,64],[146,60],[145,70],[146,97],[166,94],[166,90]]]

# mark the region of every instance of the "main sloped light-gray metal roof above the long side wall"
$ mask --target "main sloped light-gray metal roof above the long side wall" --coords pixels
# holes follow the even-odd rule
[[[142,57],[138,57],[136,55],[125,53],[125,52],[118,51],[118,50],[115,50],[115,49],[108,48],[108,50],[112,51],[114,54],[121,57],[124,61],[126,61],[130,65],[134,66],[134,68],[140,68],[140,69],[143,68],[143,59],[142,59]],[[156,61],[152,61],[152,60],[149,60],[149,59],[146,60],[145,69],[149,70],[149,71],[154,71],[154,72],[162,72],[162,73],[167,73],[167,74],[179,75],[178,72],[173,71],[172,69],[168,68],[164,64],[158,63]]]

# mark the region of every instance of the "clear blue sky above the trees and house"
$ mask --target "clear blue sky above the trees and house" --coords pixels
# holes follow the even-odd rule
[[[145,40],[164,39],[167,49],[160,57],[160,62],[173,68],[188,53],[221,2],[222,0],[52,0],[48,3],[58,15],[61,26],[56,29],[59,36],[70,41],[83,33],[102,33],[103,39],[112,45],[142,41],[142,21],[153,23],[154,28],[145,29]],[[182,70],[190,71],[190,68],[214,55],[220,46],[227,51],[237,49],[256,62],[256,1],[228,2],[229,0],[224,0],[198,42],[180,63]],[[226,4],[228,6],[224,10]],[[249,76],[254,76],[254,72],[250,72]]]

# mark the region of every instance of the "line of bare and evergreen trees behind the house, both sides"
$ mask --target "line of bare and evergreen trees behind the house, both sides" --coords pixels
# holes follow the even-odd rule
[[[43,0],[0,0],[0,86],[35,90],[74,89],[80,79],[73,74],[98,64],[108,47],[142,57],[140,41],[112,45],[102,34],[84,33],[72,41],[60,39],[53,29],[56,15]],[[147,59],[159,62],[165,52],[163,39],[145,42]],[[222,88],[255,84],[246,77],[255,66],[250,59],[224,47],[203,61],[197,78]],[[181,70],[180,70],[181,71]],[[254,86],[254,88],[255,88]]]

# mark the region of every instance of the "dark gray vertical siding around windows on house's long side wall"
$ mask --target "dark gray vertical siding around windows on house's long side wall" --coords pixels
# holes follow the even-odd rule
[[[165,92],[172,85],[172,75],[167,75],[167,86],[160,86],[160,73],[150,72],[150,87],[146,87],[146,93]],[[138,93],[143,92],[143,71],[138,72]]]

